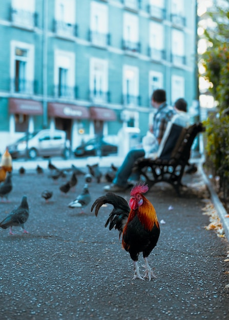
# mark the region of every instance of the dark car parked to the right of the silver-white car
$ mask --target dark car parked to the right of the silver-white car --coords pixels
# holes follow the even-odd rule
[[[97,138],[93,138],[88,142],[82,142],[80,146],[78,146],[74,150],[75,156],[86,156],[86,155],[98,155],[105,156],[110,153],[117,153],[118,147],[112,145],[104,140],[98,140]]]

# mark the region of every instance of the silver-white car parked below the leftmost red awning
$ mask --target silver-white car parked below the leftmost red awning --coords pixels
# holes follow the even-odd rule
[[[66,139],[66,132],[62,130],[45,129],[28,133],[15,143],[8,146],[12,158],[37,156],[50,157],[61,155],[70,156],[70,142]]]

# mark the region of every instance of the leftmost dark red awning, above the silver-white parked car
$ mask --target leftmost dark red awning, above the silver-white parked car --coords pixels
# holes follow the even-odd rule
[[[25,99],[9,99],[10,113],[19,113],[23,115],[43,115],[43,107],[39,101]]]

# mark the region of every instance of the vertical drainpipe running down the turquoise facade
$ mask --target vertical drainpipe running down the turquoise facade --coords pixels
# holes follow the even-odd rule
[[[47,73],[48,73],[48,0],[43,0],[43,127],[48,127]]]

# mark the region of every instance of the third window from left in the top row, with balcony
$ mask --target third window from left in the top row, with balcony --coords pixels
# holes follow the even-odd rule
[[[91,3],[90,40],[96,45],[109,44],[108,7],[94,1]]]

